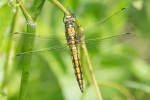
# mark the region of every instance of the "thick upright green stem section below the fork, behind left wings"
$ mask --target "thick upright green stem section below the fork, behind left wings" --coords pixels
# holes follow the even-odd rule
[[[28,23],[27,25],[27,32],[28,33],[36,33],[36,23]],[[28,38],[26,38],[28,40]],[[34,42],[28,43],[26,41],[25,50],[32,50]],[[28,55],[28,57],[24,57],[24,63],[23,63],[23,69],[22,69],[22,77],[21,77],[21,86],[20,86],[20,94],[19,94],[19,100],[26,100],[26,92],[27,92],[27,86],[28,86],[28,80],[29,80],[29,74],[30,74],[30,66],[31,66],[31,60],[32,55]]]

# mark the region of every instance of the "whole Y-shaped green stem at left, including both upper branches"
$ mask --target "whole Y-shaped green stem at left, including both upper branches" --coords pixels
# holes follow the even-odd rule
[[[44,5],[45,0],[42,0],[37,9],[35,10],[34,14],[34,19],[28,14],[26,9],[24,8],[22,2],[17,0],[17,3],[20,6],[20,9],[22,13],[24,14],[24,17],[27,21],[27,32],[31,34],[36,33],[36,19],[39,15],[39,12],[41,11],[43,5]],[[26,39],[26,45],[25,45],[25,51],[32,51],[33,46],[34,46],[34,41],[27,41],[28,38],[25,37]],[[34,37],[33,37],[34,40]],[[30,42],[30,43],[29,43]],[[24,63],[23,63],[23,69],[22,69],[22,77],[21,77],[21,86],[20,86],[20,93],[19,93],[19,100],[26,100],[26,93],[27,93],[27,86],[28,86],[28,80],[29,80],[29,74],[30,74],[30,66],[31,66],[31,60],[32,60],[32,55],[28,55],[28,57],[24,56]]]

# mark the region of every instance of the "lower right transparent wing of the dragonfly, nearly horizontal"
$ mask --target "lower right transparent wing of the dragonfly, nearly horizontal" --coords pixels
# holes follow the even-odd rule
[[[86,43],[87,49],[90,49],[93,51],[97,49],[103,50],[113,45],[116,45],[118,43],[127,41],[133,38],[134,36],[135,34],[125,33],[125,34],[120,34],[120,35],[114,35],[114,36],[107,37],[107,38],[89,39],[89,40],[85,40],[85,43]]]

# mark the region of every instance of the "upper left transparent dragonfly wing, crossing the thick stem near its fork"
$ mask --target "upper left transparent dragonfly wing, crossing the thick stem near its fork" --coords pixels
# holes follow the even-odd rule
[[[34,42],[34,50],[49,48],[51,46],[57,46],[65,44],[66,40],[61,35],[34,35],[31,33],[14,33],[14,41],[22,45],[28,45],[27,43]]]

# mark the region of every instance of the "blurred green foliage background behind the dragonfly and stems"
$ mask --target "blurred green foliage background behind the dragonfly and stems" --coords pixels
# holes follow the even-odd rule
[[[40,0],[23,0],[29,14],[33,14]],[[8,6],[9,0],[0,1],[0,100],[17,100],[22,74],[21,63],[11,59],[23,46],[12,40],[13,32],[26,32],[26,21],[19,7]],[[103,50],[90,52],[90,60],[103,100],[149,100],[150,98],[150,0],[59,0],[68,7],[83,28],[106,18],[123,7],[131,8],[123,16],[118,30],[130,30],[136,37]],[[15,12],[16,11],[16,12]],[[37,19],[37,34],[64,34],[64,13],[46,1]],[[107,27],[112,29],[115,23]],[[118,27],[119,26],[119,27]],[[117,29],[115,28],[115,29]],[[107,32],[103,37],[121,33]],[[84,55],[83,55],[84,56]],[[97,100],[95,87],[87,86],[81,93],[69,58],[54,63],[41,59],[31,66],[27,100]],[[82,64],[87,68],[86,61]],[[83,73],[88,71],[83,70]],[[91,80],[91,76],[88,78]]]

